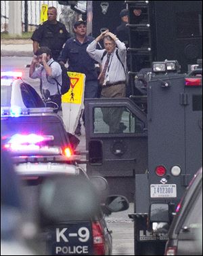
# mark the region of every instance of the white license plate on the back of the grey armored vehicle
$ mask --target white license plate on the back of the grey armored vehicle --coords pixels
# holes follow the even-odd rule
[[[150,196],[151,198],[176,198],[176,184],[151,184]]]

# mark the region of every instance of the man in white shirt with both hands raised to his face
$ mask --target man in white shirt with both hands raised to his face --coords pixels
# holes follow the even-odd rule
[[[41,79],[46,107],[53,107],[57,113],[62,103],[58,85],[62,84],[62,69],[60,64],[53,60],[49,48],[41,47],[35,54],[30,65],[29,76],[33,79]]]

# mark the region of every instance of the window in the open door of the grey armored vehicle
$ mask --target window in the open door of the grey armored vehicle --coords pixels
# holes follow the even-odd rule
[[[95,107],[93,111],[93,132],[99,133],[140,133],[145,124],[126,107]]]

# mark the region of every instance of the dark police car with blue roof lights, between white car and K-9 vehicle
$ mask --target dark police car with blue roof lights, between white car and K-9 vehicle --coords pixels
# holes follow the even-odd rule
[[[61,117],[51,108],[1,107],[1,126],[1,136],[5,140],[15,134],[35,134],[48,136],[48,145],[60,147],[64,152],[73,148]]]

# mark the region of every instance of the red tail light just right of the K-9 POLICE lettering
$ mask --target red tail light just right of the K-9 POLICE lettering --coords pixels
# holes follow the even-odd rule
[[[93,255],[105,255],[104,232],[99,221],[92,223]]]

